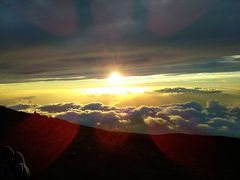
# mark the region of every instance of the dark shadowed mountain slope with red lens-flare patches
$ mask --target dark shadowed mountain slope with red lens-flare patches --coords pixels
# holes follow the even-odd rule
[[[109,132],[0,107],[0,144],[20,150],[32,179],[231,179],[240,140]]]

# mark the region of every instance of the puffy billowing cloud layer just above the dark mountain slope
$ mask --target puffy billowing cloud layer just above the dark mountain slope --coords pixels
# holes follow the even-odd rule
[[[30,105],[17,105],[10,108],[27,111]],[[41,114],[111,131],[240,137],[240,107],[226,107],[218,101],[209,101],[206,106],[197,102],[188,102],[119,108],[101,103],[86,105],[66,103],[31,105],[31,108]]]

